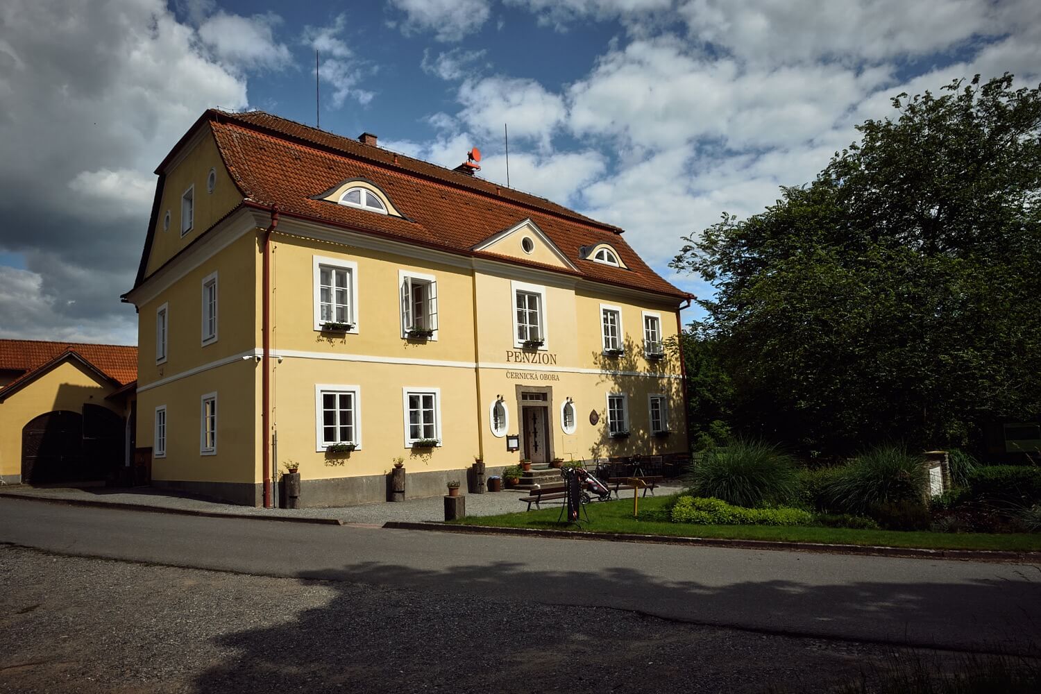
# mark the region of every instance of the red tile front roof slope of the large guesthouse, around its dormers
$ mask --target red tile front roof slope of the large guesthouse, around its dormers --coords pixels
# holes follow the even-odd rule
[[[255,203],[277,204],[290,215],[494,260],[504,257],[473,251],[473,247],[530,217],[579,267],[582,277],[675,300],[689,297],[643,262],[621,237],[620,229],[544,198],[262,111],[210,110],[200,122],[207,114],[228,171],[243,194]],[[407,219],[314,200],[314,196],[352,178],[364,178],[380,186]],[[580,259],[581,247],[601,241],[610,242],[629,269]],[[507,260],[540,266],[515,258]],[[553,269],[575,275],[569,269]]]

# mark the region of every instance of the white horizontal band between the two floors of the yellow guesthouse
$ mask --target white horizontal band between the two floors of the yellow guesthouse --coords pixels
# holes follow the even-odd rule
[[[263,356],[263,350],[254,349],[247,352],[240,352],[236,355],[230,357],[225,357],[224,359],[218,359],[217,361],[211,361],[208,364],[202,364],[201,366],[196,366],[189,368],[180,374],[174,374],[173,376],[168,376],[166,378],[159,379],[158,381],[153,381],[148,385],[138,386],[137,392],[144,392],[146,390],[151,390],[152,388],[157,388],[158,386],[164,386],[168,383],[173,383],[174,381],[179,381],[181,379],[186,379],[197,374],[202,374],[203,371],[208,371],[211,368],[217,368],[218,366],[224,366],[225,364],[233,364],[236,361],[242,361],[246,357],[259,358]],[[631,376],[631,377],[641,377],[651,379],[682,379],[683,376],[679,374],[649,374],[645,371],[609,371],[602,368],[579,368],[577,366],[544,366],[539,364],[503,364],[498,362],[482,361],[447,361],[440,359],[406,359],[403,357],[373,357],[370,355],[362,354],[330,354],[328,352],[301,352],[298,350],[277,350],[272,351],[271,356],[273,359],[277,358],[294,358],[294,359],[322,359],[326,361],[357,361],[369,364],[396,364],[396,365],[406,365],[406,366],[445,366],[449,368],[499,368],[499,369],[509,369],[512,371],[543,371],[543,372],[558,372],[558,374],[590,374],[593,376]]]

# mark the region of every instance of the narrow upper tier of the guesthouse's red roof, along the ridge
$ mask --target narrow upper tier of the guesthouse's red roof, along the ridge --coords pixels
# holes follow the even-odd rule
[[[332,144],[322,143],[322,142],[319,142],[318,139],[312,138],[312,137],[306,137],[304,135],[297,135],[297,134],[287,132],[284,129],[276,128],[273,125],[265,125],[263,123],[258,123],[258,122],[256,122],[256,121],[254,121],[252,119],[246,118],[246,117],[251,115],[251,114],[257,114],[257,115],[261,115],[261,117],[266,117],[266,118],[272,119],[272,120],[276,120],[276,121],[281,121],[281,122],[284,122],[284,123],[288,123],[288,124],[291,124],[294,126],[297,126],[297,127],[300,127],[300,128],[304,128],[307,131],[311,131],[311,132],[315,132],[315,133],[321,133],[322,135],[324,135],[326,137],[331,137],[331,138],[333,138],[335,140],[340,140],[342,143],[349,143],[350,146],[351,146],[351,148],[373,147],[373,146],[370,146],[370,145],[363,145],[362,143],[359,143],[359,142],[357,142],[355,139],[352,139],[351,137],[348,137],[346,135],[340,135],[338,133],[330,132],[328,130],[322,130],[320,128],[315,128],[313,126],[309,126],[306,123],[300,123],[299,121],[293,121],[290,119],[283,118],[281,115],[276,115],[274,113],[270,113],[270,112],[264,111],[264,110],[256,109],[256,110],[251,110],[251,111],[235,112],[235,111],[226,111],[226,110],[219,109],[219,108],[210,108],[209,111],[212,112],[218,118],[225,117],[228,120],[233,121],[237,125],[240,125],[240,126],[244,126],[244,127],[248,127],[248,128],[251,128],[251,129],[255,129],[255,130],[259,130],[259,131],[263,131],[263,132],[268,132],[269,134],[274,134],[274,135],[276,135],[276,136],[278,136],[280,138],[296,140],[296,142],[305,144],[308,147],[313,147],[313,148],[324,149],[324,150],[333,150],[333,151],[335,151],[337,153],[346,154],[346,155],[348,155],[350,157],[353,157],[353,158],[356,158],[356,159],[361,159],[361,160],[364,160],[364,161],[369,161],[371,163],[374,163],[374,164],[377,164],[377,165],[380,165],[380,166],[384,166],[384,168],[397,168],[397,169],[399,169],[401,171],[404,171],[404,172],[406,172],[406,173],[408,173],[408,174],[410,174],[412,176],[418,176],[421,178],[433,179],[433,180],[437,181],[438,183],[441,183],[441,184],[445,184],[445,185],[450,185],[450,186],[458,187],[458,188],[463,189],[463,190],[469,190],[472,192],[477,192],[477,194],[482,195],[482,196],[498,198],[499,200],[506,200],[506,201],[512,202],[514,204],[517,204],[517,205],[520,205],[520,206],[524,206],[524,207],[529,207],[531,209],[535,209],[537,211],[540,211],[540,212],[543,212],[543,213],[547,213],[547,214],[552,214],[552,215],[559,216],[559,217],[566,219],[566,220],[570,220],[570,221],[574,221],[574,222],[579,222],[581,224],[586,224],[586,225],[589,225],[591,227],[595,227],[595,228],[599,228],[599,229],[610,231],[610,232],[618,234],[618,235],[620,235],[621,233],[625,232],[625,230],[621,227],[617,227],[615,225],[608,224],[606,222],[601,222],[599,220],[594,220],[594,219],[592,219],[590,216],[582,214],[581,212],[577,212],[577,211],[575,211],[575,210],[573,210],[573,209],[570,209],[568,207],[565,207],[565,206],[561,205],[560,203],[556,203],[556,202],[550,200],[549,198],[542,198],[540,196],[536,196],[536,195],[531,194],[531,192],[526,192],[526,191],[519,190],[517,188],[509,187],[509,186],[503,185],[501,183],[496,183],[493,181],[488,181],[488,180],[481,179],[481,178],[471,178],[471,177],[467,177],[467,180],[460,180],[457,177],[451,177],[451,176],[449,176],[449,174],[453,173],[451,169],[447,169],[446,166],[441,166],[440,164],[434,163],[432,161],[427,161],[426,159],[421,159],[418,157],[413,157],[413,156],[410,156],[408,154],[404,154],[402,152],[396,152],[396,151],[390,150],[390,149],[385,148],[385,147],[377,147],[376,151],[377,152],[382,152],[382,153],[387,154],[387,155],[392,155],[393,158],[395,158],[395,161],[392,161],[392,162],[390,162],[390,161],[383,161],[379,157],[366,156],[366,154],[364,152],[355,151],[354,149],[347,149],[345,147],[336,147],[336,146],[334,146]],[[218,120],[218,122],[220,122],[220,121]],[[403,165],[401,162],[398,161],[398,159],[406,159],[408,161],[414,161],[414,162],[423,164],[425,166],[431,166],[434,170],[436,170],[439,175],[434,175],[434,174],[430,174],[430,173],[424,173],[424,172],[421,172],[421,171],[416,171],[413,168],[408,168],[406,165]],[[460,174],[460,176],[461,175],[463,175],[463,174]],[[485,189],[484,186],[494,187],[496,188],[496,192],[492,192],[489,189]]]

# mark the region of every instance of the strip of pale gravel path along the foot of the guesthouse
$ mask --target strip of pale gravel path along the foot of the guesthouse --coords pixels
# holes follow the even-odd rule
[[[679,489],[679,487],[677,487]],[[360,506],[342,506],[323,509],[258,509],[251,506],[235,506],[207,502],[191,496],[157,493],[148,487],[133,489],[107,489],[105,487],[17,487],[0,493],[18,496],[35,496],[56,499],[79,499],[108,504],[130,504],[159,509],[181,509],[206,513],[227,513],[233,515],[266,516],[279,518],[336,518],[350,523],[383,524],[388,520],[422,522],[445,520],[445,506],[441,496],[413,498],[400,504],[376,503]],[[666,489],[660,493],[669,493]],[[524,511],[528,508],[519,497],[524,494],[501,491],[485,494],[466,494],[466,515],[494,516],[501,513]],[[632,498],[631,491],[623,490],[623,498]]]

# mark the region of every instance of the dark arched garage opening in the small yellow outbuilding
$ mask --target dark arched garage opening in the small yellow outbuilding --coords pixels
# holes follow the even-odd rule
[[[123,462],[123,418],[97,406],[47,412],[22,428],[22,482],[104,480]]]

